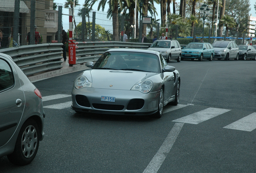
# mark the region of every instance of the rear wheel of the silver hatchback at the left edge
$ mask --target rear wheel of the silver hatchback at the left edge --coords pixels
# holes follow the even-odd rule
[[[30,119],[26,121],[17,137],[14,151],[8,159],[15,165],[27,165],[33,161],[39,147],[39,128],[37,123]]]

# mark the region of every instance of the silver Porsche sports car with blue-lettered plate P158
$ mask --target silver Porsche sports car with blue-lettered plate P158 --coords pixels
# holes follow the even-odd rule
[[[78,113],[153,115],[168,103],[178,105],[180,73],[153,50],[106,51],[76,77],[71,109]]]

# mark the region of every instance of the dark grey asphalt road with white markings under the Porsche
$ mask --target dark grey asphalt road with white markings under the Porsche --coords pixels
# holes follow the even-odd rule
[[[161,119],[75,113],[80,72],[34,82],[45,98],[45,138],[30,165],[2,157],[0,172],[256,173],[256,61],[168,64],[181,75],[180,104]]]

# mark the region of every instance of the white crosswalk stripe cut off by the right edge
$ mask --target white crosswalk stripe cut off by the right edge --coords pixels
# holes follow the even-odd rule
[[[253,131],[254,129],[256,129],[256,113],[252,113],[223,128],[241,131]]]

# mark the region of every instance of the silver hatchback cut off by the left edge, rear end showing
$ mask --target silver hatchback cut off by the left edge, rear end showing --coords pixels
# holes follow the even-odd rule
[[[0,53],[0,157],[33,161],[43,139],[42,96],[9,55]]]

